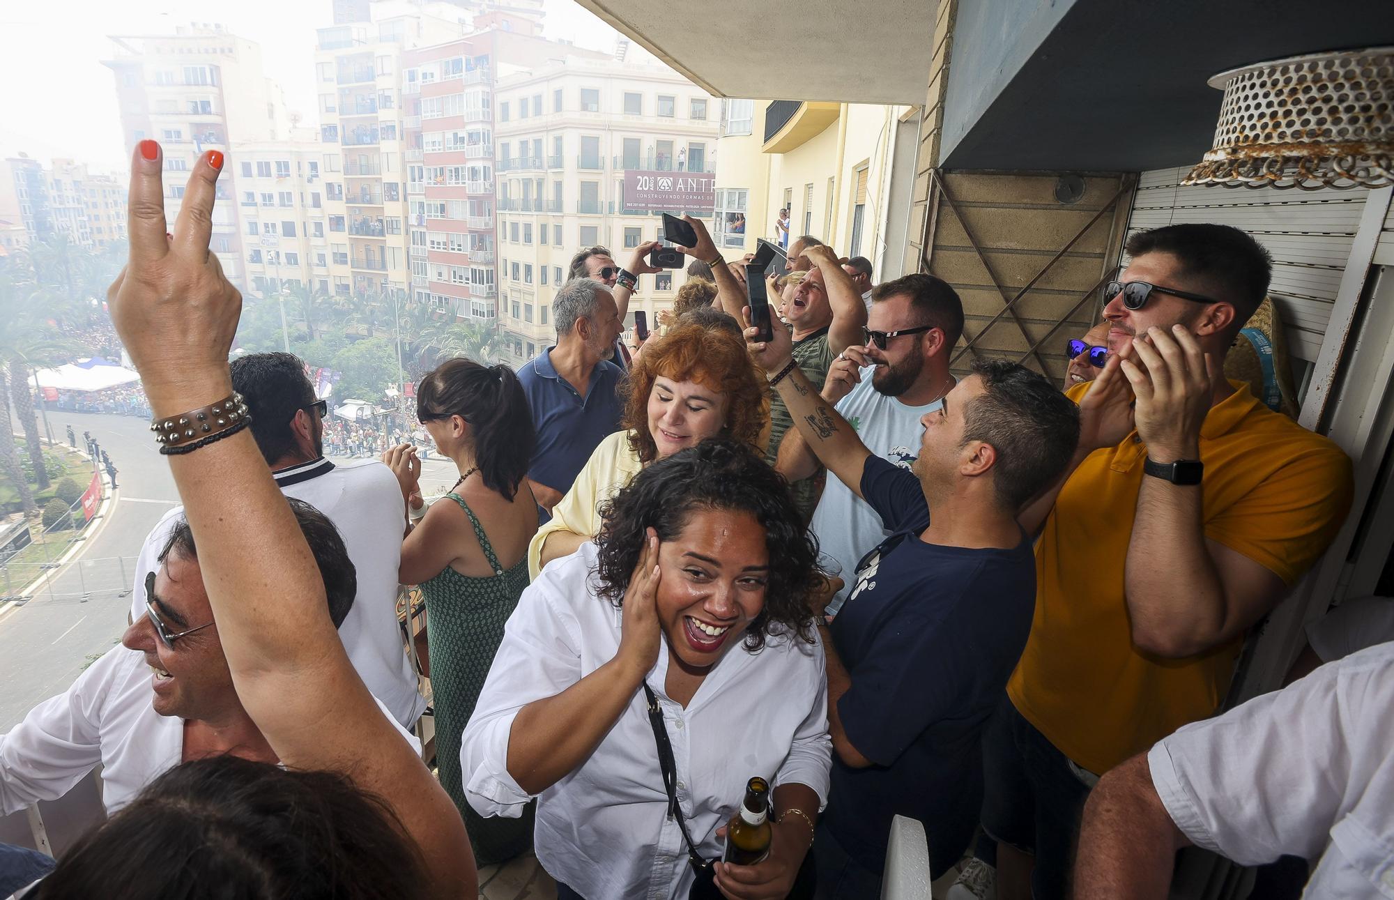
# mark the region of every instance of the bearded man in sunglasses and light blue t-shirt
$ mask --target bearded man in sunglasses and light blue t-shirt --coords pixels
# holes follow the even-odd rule
[[[871,291],[866,344],[848,347],[828,369],[822,398],[836,404],[867,450],[901,468],[914,461],[920,418],[944,405],[955,380],[949,354],[963,332],[963,305],[952,287],[933,274],[907,274]],[[790,483],[818,471],[818,460],[797,429],[779,444],[775,465]],[[836,478],[829,478],[810,525],[818,548],[836,561],[843,585],[828,605],[836,614],[855,587],[848,573],[891,536],[875,510]]]

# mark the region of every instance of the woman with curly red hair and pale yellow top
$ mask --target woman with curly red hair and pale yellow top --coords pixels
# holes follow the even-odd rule
[[[527,549],[537,578],[599,531],[599,506],[645,465],[725,435],[764,453],[769,397],[744,340],[726,329],[679,323],[634,357],[619,386],[625,430],[595,447],[552,518]]]

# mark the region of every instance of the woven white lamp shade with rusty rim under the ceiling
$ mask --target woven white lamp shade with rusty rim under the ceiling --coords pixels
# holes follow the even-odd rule
[[[1182,184],[1394,184],[1394,47],[1259,63],[1209,84],[1224,91],[1214,148]]]

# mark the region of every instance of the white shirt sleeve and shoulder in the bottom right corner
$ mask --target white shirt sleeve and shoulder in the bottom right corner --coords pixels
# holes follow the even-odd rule
[[[1193,844],[1310,860],[1305,897],[1394,897],[1394,644],[1188,724],[1147,762]]]

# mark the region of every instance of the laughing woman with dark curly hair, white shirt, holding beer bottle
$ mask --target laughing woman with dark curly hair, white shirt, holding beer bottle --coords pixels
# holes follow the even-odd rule
[[[538,798],[563,899],[686,897],[697,878],[783,897],[832,762],[817,545],[783,479],[721,437],[647,465],[601,515],[509,619],[460,750],[466,796],[502,816]],[[774,789],[768,857],[704,867],[751,776]]]

